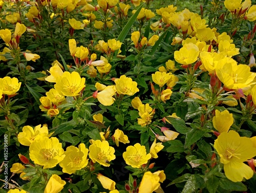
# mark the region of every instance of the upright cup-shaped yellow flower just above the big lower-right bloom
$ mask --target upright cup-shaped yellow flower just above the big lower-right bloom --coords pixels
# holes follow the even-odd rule
[[[232,113],[229,113],[227,110],[220,112],[219,110],[215,111],[215,116],[212,119],[214,128],[219,132],[228,132],[230,126],[233,124],[234,119]]]

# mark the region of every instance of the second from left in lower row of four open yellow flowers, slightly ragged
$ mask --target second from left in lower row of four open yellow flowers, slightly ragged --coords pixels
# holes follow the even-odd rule
[[[65,158],[59,163],[63,173],[73,174],[88,164],[88,148],[84,143],[80,143],[78,148],[71,145],[64,152]]]

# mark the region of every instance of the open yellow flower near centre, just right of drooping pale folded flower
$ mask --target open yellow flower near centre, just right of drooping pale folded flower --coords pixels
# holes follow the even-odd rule
[[[137,88],[137,82],[133,81],[132,78],[126,77],[125,75],[115,79],[117,93],[123,95],[133,96],[139,92]]]

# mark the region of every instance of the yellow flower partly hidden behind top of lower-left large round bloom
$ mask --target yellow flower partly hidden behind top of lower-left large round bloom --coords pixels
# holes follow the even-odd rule
[[[18,134],[18,142],[25,146],[30,146],[31,143],[37,137],[51,137],[53,133],[48,132],[47,126],[42,126],[39,124],[35,126],[34,130],[31,126],[27,125],[22,128],[22,132]]]

